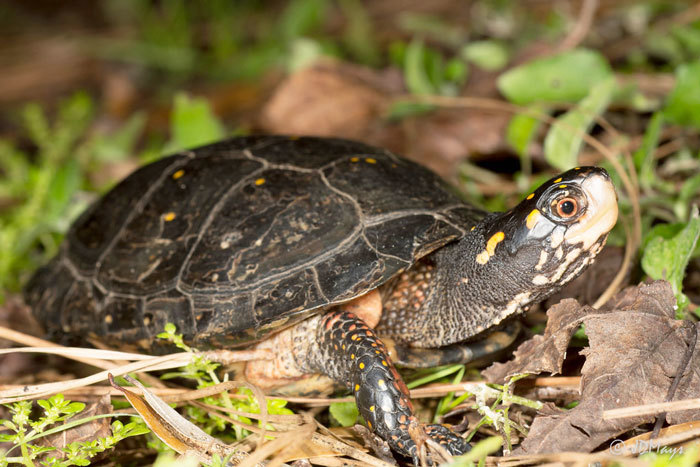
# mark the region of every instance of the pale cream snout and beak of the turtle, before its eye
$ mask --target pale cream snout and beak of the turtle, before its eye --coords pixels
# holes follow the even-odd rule
[[[602,172],[589,175],[581,183],[581,188],[588,206],[577,222],[567,229],[564,240],[569,245],[582,244],[582,248],[588,250],[615,226],[617,192],[610,177]]]

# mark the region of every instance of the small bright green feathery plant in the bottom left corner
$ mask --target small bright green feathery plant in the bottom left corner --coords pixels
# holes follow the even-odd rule
[[[12,443],[13,446],[6,453],[0,453],[0,467],[9,464],[35,467],[37,462],[40,465],[58,467],[88,465],[91,458],[113,448],[119,441],[150,431],[142,422],[131,422],[124,425],[115,420],[112,422],[111,436],[92,441],[76,441],[62,448],[41,446],[35,444],[40,438],[109,415],[75,420],[73,417],[82,412],[85,404],[65,400],[62,394],[56,394],[46,400],[39,400],[37,405],[43,410],[43,415],[36,419],[32,418],[32,403],[30,401],[6,405],[12,414],[12,419],[0,420],[0,425],[5,428],[4,432],[0,433],[0,442]],[[12,455],[17,449],[19,453],[16,454],[19,455]]]

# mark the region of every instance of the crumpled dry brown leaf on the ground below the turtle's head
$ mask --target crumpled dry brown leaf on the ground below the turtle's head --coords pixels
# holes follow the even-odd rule
[[[559,414],[535,418],[528,437],[515,453],[590,452],[617,434],[654,420],[645,415],[603,420],[602,412],[665,400],[686,352],[692,350],[674,400],[700,396],[700,356],[696,323],[676,320],[670,285],[655,281],[630,287],[600,310],[565,300],[552,307],[544,336],[521,345],[513,362],[494,365],[490,380],[515,373],[561,371],[565,344],[579,323],[590,347],[582,353],[579,405]],[[700,410],[668,415],[671,423],[700,418]]]

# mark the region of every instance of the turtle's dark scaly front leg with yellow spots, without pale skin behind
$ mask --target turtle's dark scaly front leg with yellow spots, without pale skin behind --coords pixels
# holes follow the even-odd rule
[[[319,318],[309,370],[324,373],[350,388],[367,426],[396,452],[418,465],[420,447],[428,438],[453,455],[469,443],[442,425],[423,426],[413,414],[408,389],[374,331],[355,314],[332,310]]]

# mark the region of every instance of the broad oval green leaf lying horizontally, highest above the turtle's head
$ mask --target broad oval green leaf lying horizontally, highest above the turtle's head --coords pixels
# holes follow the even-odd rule
[[[612,76],[603,55],[575,49],[513,68],[498,78],[498,89],[511,102],[577,102]]]

